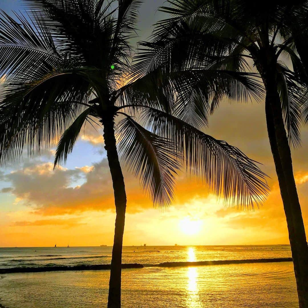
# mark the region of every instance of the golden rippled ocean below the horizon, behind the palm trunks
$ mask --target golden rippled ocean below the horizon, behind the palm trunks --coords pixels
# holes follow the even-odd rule
[[[110,264],[111,251],[0,248],[0,307],[106,307],[109,270],[72,268]],[[122,307],[298,308],[290,257],[289,245],[125,246],[122,263],[144,267],[122,270]]]

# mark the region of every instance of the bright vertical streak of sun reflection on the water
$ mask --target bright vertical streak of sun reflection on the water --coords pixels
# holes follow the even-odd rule
[[[189,247],[187,251],[187,261],[194,262],[196,261],[196,254],[194,247]],[[188,267],[187,268],[187,297],[186,303],[189,308],[202,308],[202,304],[199,298],[199,289],[198,289],[198,270],[197,267]]]

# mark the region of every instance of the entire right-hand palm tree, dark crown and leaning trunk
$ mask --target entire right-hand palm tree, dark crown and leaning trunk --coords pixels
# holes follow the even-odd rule
[[[141,71],[161,67],[254,72],[265,90],[270,146],[278,176],[294,261],[300,307],[308,307],[308,249],[296,190],[290,146],[301,143],[308,122],[308,1],[170,0],[160,10],[150,43],[141,43]],[[236,81],[237,82],[237,81]],[[241,91],[230,78],[205,98],[212,113],[225,97]],[[204,84],[201,84],[203,87]],[[259,91],[259,90],[258,90]]]

